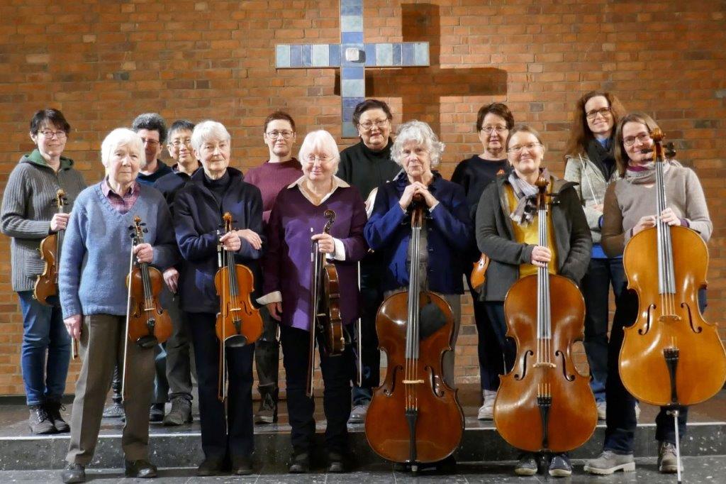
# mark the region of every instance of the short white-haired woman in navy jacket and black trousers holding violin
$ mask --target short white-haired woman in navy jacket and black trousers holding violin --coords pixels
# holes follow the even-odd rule
[[[252,360],[254,344],[227,347],[229,392],[227,406],[217,398],[219,340],[214,326],[219,297],[214,286],[217,245],[234,254],[237,264],[250,268],[260,281],[258,259],[265,243],[262,235],[262,195],[245,182],[242,172],[229,166],[227,129],[216,121],[203,121],[192,132],[192,148],[202,169],[197,170],[174,201],[174,228],[181,257],[179,278],[181,310],[189,321],[197,363],[202,450],[200,476],[229,469],[237,475],[252,472]],[[222,215],[232,214],[234,230],[219,237]]]

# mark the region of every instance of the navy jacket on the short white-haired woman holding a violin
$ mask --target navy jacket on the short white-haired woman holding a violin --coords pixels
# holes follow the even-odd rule
[[[214,287],[217,265],[217,229],[224,230],[222,214],[229,211],[234,228],[250,229],[266,243],[262,230],[262,195],[258,187],[244,181],[242,172],[227,168],[229,187],[222,197],[221,206],[204,186],[204,170],[197,170],[187,186],[181,188],[174,200],[174,230],[179,244],[184,269],[179,278],[181,309],[188,312],[219,312],[219,297]],[[234,254],[237,264],[252,270],[255,292],[260,297],[261,273],[258,263],[261,250],[255,250],[242,239],[242,247]]]

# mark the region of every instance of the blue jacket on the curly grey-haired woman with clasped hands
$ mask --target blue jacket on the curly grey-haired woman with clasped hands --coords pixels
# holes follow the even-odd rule
[[[386,263],[384,291],[408,286],[406,259],[411,240],[411,217],[399,206],[407,185],[408,177],[401,173],[378,188],[373,213],[364,229],[368,245],[374,251],[380,251]],[[444,180],[439,172],[433,172],[429,191],[439,204],[425,215],[428,289],[441,294],[462,294],[462,274],[468,262],[462,254],[470,251],[473,244],[473,227],[464,189]]]

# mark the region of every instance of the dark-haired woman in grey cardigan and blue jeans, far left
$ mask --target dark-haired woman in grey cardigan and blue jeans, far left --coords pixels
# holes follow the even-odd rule
[[[68,374],[70,338],[57,296],[43,304],[33,298],[33,288],[44,269],[38,251],[41,241],[65,230],[73,202],[86,187],[73,160],[62,156],[69,132],[70,125],[59,110],[36,112],[30,119],[30,139],[36,148],[20,157],[2,199],[2,233],[12,238],[12,289],[23,311],[20,365],[30,409],[28,427],[33,434],[68,432],[60,399]],[[57,213],[59,189],[65,192],[63,214]]]

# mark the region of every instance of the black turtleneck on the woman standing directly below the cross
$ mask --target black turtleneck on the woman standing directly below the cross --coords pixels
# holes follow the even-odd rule
[[[370,192],[390,182],[401,171],[401,167],[391,160],[393,140],[388,139],[386,148],[373,151],[363,142],[356,143],[340,152],[340,164],[336,174],[341,180],[358,189],[363,199]]]

